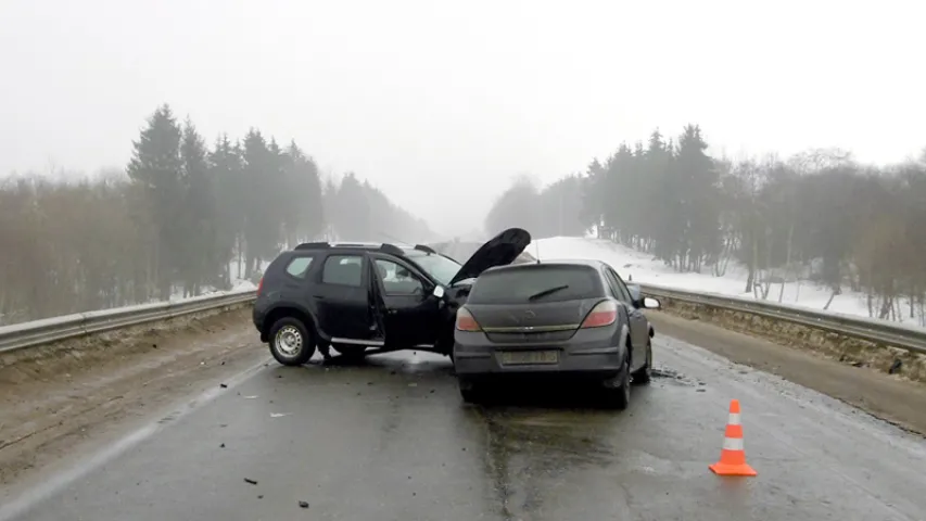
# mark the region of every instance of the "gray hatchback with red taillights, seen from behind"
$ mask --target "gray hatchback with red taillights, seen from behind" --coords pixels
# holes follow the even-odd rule
[[[457,312],[460,394],[481,402],[490,380],[561,374],[597,380],[624,409],[631,383],[649,382],[655,331],[643,309],[659,307],[600,260],[489,269]]]

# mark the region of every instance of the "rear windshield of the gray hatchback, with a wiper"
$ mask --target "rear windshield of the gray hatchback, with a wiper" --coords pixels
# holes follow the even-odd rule
[[[587,266],[533,265],[482,274],[469,304],[525,304],[601,296],[598,274]]]

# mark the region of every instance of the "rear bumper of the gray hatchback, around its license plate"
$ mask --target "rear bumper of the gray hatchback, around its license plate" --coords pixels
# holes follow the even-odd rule
[[[505,351],[557,351],[559,363],[536,365],[503,365]],[[583,330],[566,342],[551,344],[496,344],[483,333],[456,332],[454,366],[464,378],[499,377],[503,374],[614,378],[621,372],[626,347],[613,330]]]

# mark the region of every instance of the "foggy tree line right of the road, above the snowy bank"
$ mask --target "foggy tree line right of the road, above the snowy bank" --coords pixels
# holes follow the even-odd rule
[[[721,277],[735,259],[744,292],[761,298],[810,280],[832,290],[826,307],[849,289],[872,317],[926,325],[926,152],[884,166],[836,149],[734,160],[710,155],[697,125],[669,139],[656,130],[549,187],[517,180],[486,218],[507,226],[594,228],[678,271]]]

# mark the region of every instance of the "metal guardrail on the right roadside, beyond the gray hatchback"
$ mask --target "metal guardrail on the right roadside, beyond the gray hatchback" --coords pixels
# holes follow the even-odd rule
[[[700,306],[748,313],[877,344],[900,347],[913,353],[926,354],[926,328],[832,312],[817,312],[807,307],[778,304],[777,302],[772,303],[715,293],[695,293],[651,284],[638,285],[643,294],[657,298],[663,297]]]

